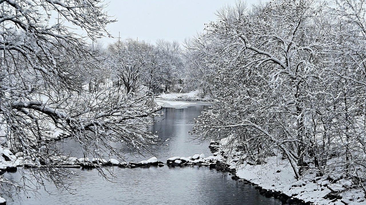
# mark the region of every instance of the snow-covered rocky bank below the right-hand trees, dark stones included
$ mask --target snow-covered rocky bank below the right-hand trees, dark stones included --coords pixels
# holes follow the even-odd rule
[[[225,139],[220,143],[225,144]],[[239,163],[242,153],[223,147],[219,143],[211,143],[210,149],[217,155],[216,159],[224,163],[228,170],[233,170],[237,177],[257,185],[256,189],[261,194],[270,193],[267,197],[275,196],[289,204],[302,201],[315,205],[366,205],[363,191],[347,189],[352,182],[340,174],[316,176],[308,172],[298,180],[290,163],[281,160],[279,155],[268,157],[265,163],[258,165]]]

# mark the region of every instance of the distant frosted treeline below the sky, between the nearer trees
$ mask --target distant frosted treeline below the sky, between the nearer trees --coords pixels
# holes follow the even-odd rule
[[[114,87],[123,88],[127,93],[137,91],[140,86],[154,94],[182,92],[183,88],[176,86],[180,79],[185,84],[184,91],[197,88],[190,81],[186,52],[176,41],[160,39],[152,44],[126,39],[106,47],[99,44],[91,50],[97,51],[103,59],[98,69],[86,72],[89,76],[85,78],[85,84],[93,84],[94,89],[109,80]]]

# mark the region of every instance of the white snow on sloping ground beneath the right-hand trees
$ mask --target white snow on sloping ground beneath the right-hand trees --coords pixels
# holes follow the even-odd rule
[[[224,144],[226,139],[221,140],[220,144]],[[293,196],[305,202],[313,202],[316,205],[366,205],[365,194],[361,189],[349,190],[344,189],[349,183],[346,179],[340,180],[336,183],[330,183],[326,177],[316,177],[313,173],[304,174],[302,179],[296,179],[292,171],[290,163],[286,160],[280,160],[279,156],[268,157],[261,165],[249,165],[247,163],[236,163],[241,153],[230,152],[226,148],[219,150],[224,151],[228,158],[224,159],[222,155],[212,157],[221,162],[230,165],[230,169],[236,169],[236,175],[239,178],[245,179],[251,183],[255,183],[263,189],[281,192],[287,196]],[[235,157],[234,157],[235,156]],[[331,190],[344,190],[340,194],[343,198],[341,200],[329,200],[325,197],[331,193]]]

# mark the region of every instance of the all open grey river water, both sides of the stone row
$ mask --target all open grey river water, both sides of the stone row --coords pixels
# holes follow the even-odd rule
[[[193,154],[210,155],[209,142],[201,144],[190,142],[189,121],[202,111],[202,105],[184,109],[164,108],[165,119],[154,125],[153,130],[166,140],[167,146],[156,146],[152,153],[163,162],[171,156],[192,156]],[[75,144],[68,142],[64,150],[70,150],[77,156]],[[80,154],[80,153],[79,153]],[[128,160],[137,159],[127,154]],[[95,169],[74,169],[75,175],[65,179],[74,189],[74,194],[57,190],[46,183],[46,190],[41,189],[38,197],[33,195],[22,199],[13,197],[7,204],[22,205],[130,205],[130,204],[176,204],[176,205],[279,205],[274,198],[265,198],[251,185],[234,181],[228,173],[222,173],[208,167],[149,167],[136,169],[115,168],[116,178],[107,181],[98,176]],[[19,172],[6,177],[19,181]],[[50,195],[49,193],[52,193]]]

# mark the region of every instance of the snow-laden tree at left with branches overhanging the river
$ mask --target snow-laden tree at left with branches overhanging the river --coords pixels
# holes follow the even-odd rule
[[[85,73],[103,65],[87,40],[109,35],[105,27],[115,21],[105,6],[102,0],[0,1],[1,150],[37,168],[30,171],[38,183],[62,185],[69,174],[50,163],[62,155],[49,141],[57,133],[79,142],[85,156],[99,158],[120,156],[123,148],[116,147],[141,150],[157,143],[147,128],[159,108],[146,90],[133,96],[113,87],[83,92]]]

